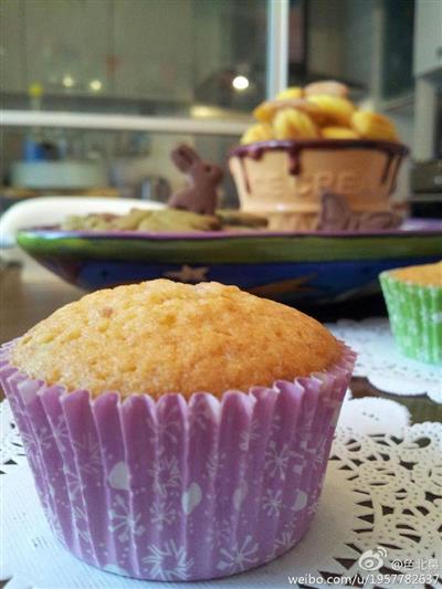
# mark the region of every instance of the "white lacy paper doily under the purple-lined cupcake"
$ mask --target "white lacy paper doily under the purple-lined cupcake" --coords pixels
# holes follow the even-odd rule
[[[0,404],[0,467],[6,473],[0,475],[4,505],[1,525],[8,529],[0,578],[10,579],[6,587],[158,589],[158,582],[93,569],[57,544],[40,508],[7,402]],[[352,400],[347,396],[318,512],[305,539],[284,557],[250,572],[210,585],[186,582],[168,587],[299,587],[290,577],[296,577],[303,587],[315,588],[329,586],[319,582],[319,577],[333,577],[334,587],[344,587],[343,576],[358,574],[366,579],[366,588],[424,588],[424,582],[393,582],[393,577],[387,575],[410,575],[411,580],[427,581],[427,588],[440,587],[442,424],[408,424],[407,409],[394,401]],[[284,537],[280,541],[284,543]],[[378,575],[390,582],[382,585]],[[429,576],[434,582],[428,582]]]

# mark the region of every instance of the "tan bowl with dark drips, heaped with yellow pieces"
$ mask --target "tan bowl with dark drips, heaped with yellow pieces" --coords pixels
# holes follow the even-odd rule
[[[270,229],[318,229],[322,196],[341,196],[355,213],[392,213],[390,194],[408,149],[391,120],[358,109],[337,82],[287,88],[259,105],[257,123],[230,155],[242,210]]]

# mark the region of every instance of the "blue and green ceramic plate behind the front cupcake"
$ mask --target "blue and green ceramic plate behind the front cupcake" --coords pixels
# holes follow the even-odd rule
[[[19,244],[93,291],[151,278],[218,281],[284,303],[330,303],[379,290],[383,270],[442,259],[442,221],[370,233],[141,233],[27,229]]]

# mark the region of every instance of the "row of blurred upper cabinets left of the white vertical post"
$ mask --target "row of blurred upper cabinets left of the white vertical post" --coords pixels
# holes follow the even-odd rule
[[[94,109],[75,98],[103,97],[101,111],[183,114],[200,102],[249,112],[264,97],[266,8],[266,0],[0,0],[1,91],[23,98],[38,83],[50,109]],[[232,87],[239,74],[250,77],[245,92]]]

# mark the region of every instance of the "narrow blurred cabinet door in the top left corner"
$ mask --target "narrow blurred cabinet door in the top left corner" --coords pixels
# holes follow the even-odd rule
[[[0,88],[25,92],[24,6],[17,0],[0,2]]]

